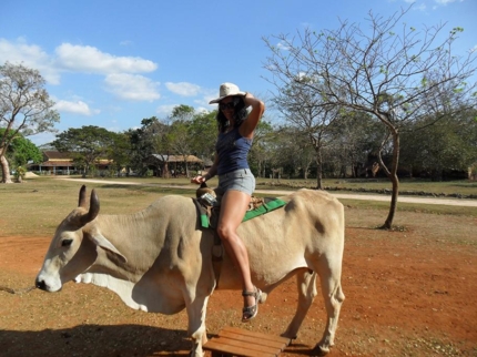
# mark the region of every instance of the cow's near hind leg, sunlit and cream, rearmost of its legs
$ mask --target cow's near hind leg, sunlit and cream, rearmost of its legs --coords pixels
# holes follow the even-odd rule
[[[323,337],[315,346],[315,351],[317,355],[326,355],[329,351],[329,347],[334,345],[339,310],[345,299],[341,284],[342,262],[341,259],[333,262],[327,258],[323,258],[319,262],[319,268],[317,272],[322,285],[327,320]]]

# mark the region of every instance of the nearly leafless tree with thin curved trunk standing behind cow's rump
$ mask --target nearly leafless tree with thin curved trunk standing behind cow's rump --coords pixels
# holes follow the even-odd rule
[[[266,68],[278,88],[306,86],[323,96],[324,106],[366,112],[384,125],[378,160],[393,185],[384,228],[392,228],[397,207],[400,131],[419,118],[438,121],[475,108],[477,101],[476,83],[470,81],[476,53],[458,57],[451,52],[463,29],[453,29],[437,44],[445,24],[419,32],[404,23],[396,30],[409,9],[388,19],[369,13],[369,31],[344,21],[337,30],[316,33],[306,29],[296,41],[277,35],[281,47],[265,39],[272,51]],[[301,76],[315,80],[300,83]],[[385,147],[392,149],[390,167],[382,157]]]

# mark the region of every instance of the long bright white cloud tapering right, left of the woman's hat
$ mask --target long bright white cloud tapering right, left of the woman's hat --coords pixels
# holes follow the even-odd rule
[[[115,57],[91,45],[62,43],[55,49],[58,64],[74,72],[140,73],[152,72],[158,65],[138,57]]]

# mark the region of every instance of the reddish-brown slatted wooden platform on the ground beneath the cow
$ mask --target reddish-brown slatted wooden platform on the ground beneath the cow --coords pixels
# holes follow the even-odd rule
[[[273,357],[283,353],[290,341],[291,339],[285,337],[254,333],[237,327],[225,327],[203,348],[212,351],[213,357]]]

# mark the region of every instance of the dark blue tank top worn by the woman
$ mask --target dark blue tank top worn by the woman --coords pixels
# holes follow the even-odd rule
[[[217,174],[223,175],[238,169],[250,169],[246,156],[252,147],[252,139],[243,137],[238,128],[229,133],[219,133],[215,151],[219,155]]]

